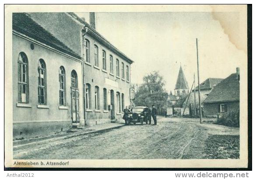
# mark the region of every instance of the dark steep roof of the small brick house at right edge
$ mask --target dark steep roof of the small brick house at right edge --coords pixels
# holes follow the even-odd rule
[[[203,103],[239,101],[239,88],[237,74],[233,73],[217,84]]]

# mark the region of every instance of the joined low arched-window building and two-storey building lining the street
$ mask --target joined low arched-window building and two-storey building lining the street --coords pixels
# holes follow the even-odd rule
[[[118,122],[132,62],[76,14],[13,14],[14,137]]]

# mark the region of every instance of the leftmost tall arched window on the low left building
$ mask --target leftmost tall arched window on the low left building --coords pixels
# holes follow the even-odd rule
[[[28,103],[28,57],[24,52],[18,56],[18,102]]]

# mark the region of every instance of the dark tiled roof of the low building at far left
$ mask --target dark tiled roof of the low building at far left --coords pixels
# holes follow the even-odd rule
[[[12,14],[12,28],[31,37],[37,41],[40,41],[46,45],[56,48],[59,51],[70,54],[74,57],[81,59],[81,57],[72,51],[69,47],[59,41],[53,34],[45,30],[42,26],[32,20],[31,16],[26,13],[13,13]]]

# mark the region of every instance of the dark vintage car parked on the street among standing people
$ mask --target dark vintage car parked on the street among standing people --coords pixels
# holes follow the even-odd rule
[[[133,107],[128,124],[130,125],[130,123],[133,123],[135,125],[137,122],[140,122],[140,124],[143,125],[143,122],[146,122],[147,120],[147,116],[150,115],[147,114],[147,109],[146,106]]]

